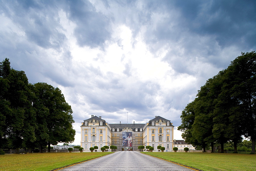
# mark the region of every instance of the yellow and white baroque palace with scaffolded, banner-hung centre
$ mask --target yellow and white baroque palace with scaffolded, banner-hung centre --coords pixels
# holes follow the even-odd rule
[[[173,128],[170,120],[161,116],[155,116],[146,124],[109,124],[101,116],[91,115],[81,125],[81,147],[85,151],[105,145],[115,145],[118,150],[138,150],[140,145],[150,145],[157,151],[157,146],[161,145],[171,151],[174,145]]]

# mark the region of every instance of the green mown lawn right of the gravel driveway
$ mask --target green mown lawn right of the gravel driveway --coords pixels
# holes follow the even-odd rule
[[[255,154],[142,152],[200,170],[256,170]]]

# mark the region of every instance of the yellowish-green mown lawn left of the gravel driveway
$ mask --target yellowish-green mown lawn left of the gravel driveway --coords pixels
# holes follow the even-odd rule
[[[0,170],[52,170],[113,152],[0,155]]]

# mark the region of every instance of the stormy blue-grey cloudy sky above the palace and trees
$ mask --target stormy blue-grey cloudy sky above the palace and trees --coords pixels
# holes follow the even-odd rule
[[[59,87],[76,139],[108,123],[173,122],[207,79],[256,50],[256,1],[0,1],[0,60]]]

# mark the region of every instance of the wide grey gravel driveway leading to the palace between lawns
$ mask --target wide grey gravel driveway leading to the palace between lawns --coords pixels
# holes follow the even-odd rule
[[[136,151],[118,151],[62,170],[190,170]]]

